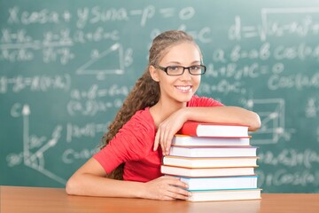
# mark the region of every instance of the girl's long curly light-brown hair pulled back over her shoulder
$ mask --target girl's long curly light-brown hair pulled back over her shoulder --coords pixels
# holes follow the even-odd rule
[[[181,30],[166,31],[154,38],[149,51],[148,66],[144,74],[136,81],[132,91],[128,93],[127,99],[124,100],[121,109],[109,125],[107,133],[101,139],[101,148],[105,147],[112,140],[122,126],[136,114],[136,111],[144,109],[147,106],[154,106],[159,101],[159,83],[152,79],[149,67],[157,65],[167,51],[169,51],[170,47],[184,42],[194,43],[193,38]],[[196,43],[194,44],[197,46]],[[107,174],[107,177],[122,179],[123,170],[124,163],[110,174]]]

